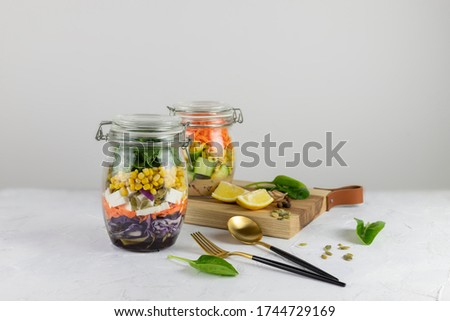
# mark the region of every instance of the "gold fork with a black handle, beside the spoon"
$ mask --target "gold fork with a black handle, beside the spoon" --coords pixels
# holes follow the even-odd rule
[[[248,253],[244,253],[244,252],[239,252],[239,251],[234,251],[234,252],[230,252],[230,251],[226,251],[224,249],[221,249],[220,247],[218,247],[216,244],[214,244],[213,242],[211,242],[209,239],[207,239],[202,233],[200,232],[195,232],[192,233],[191,236],[194,238],[194,240],[197,242],[197,244],[208,254],[213,255],[213,256],[217,256],[217,257],[221,257],[221,258],[226,258],[229,257],[231,255],[238,255],[238,256],[242,256],[245,257],[246,259],[250,259],[253,261],[257,261],[266,265],[270,265],[272,267],[275,267],[277,269],[281,269],[284,271],[288,271],[291,273],[295,273],[295,274],[299,274],[299,275],[303,275],[306,277],[310,277],[312,279],[316,279],[319,281],[323,281],[323,282],[328,282],[331,284],[335,284],[335,285],[339,285],[344,287],[345,283],[334,280],[334,279],[330,279],[327,278],[326,276],[323,275],[319,275],[313,272],[309,272],[306,270],[302,270],[299,269],[297,267],[291,266],[291,265],[287,265],[281,262],[277,262],[277,261],[272,261],[260,256],[256,256],[256,255],[252,255],[252,254],[248,254]]]

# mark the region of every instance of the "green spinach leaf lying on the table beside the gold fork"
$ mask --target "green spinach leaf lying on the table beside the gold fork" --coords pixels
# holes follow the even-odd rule
[[[224,276],[235,276],[239,274],[238,271],[236,271],[236,269],[230,263],[217,256],[202,255],[195,261],[174,255],[169,255],[167,258],[188,262],[189,265],[194,269],[209,274]]]

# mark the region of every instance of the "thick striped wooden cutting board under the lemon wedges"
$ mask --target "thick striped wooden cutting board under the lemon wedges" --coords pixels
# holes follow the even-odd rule
[[[227,229],[228,220],[235,215],[247,216],[257,222],[266,236],[289,239],[316,217],[326,211],[328,190],[310,189],[305,200],[291,200],[290,219],[278,220],[271,216],[276,205],[252,211],[237,204],[228,204],[207,197],[189,198],[185,222],[201,226]]]

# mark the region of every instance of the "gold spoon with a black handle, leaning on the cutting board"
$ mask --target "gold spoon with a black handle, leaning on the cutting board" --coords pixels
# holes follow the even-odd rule
[[[324,275],[328,278],[338,280],[338,278],[332,276],[331,274],[319,269],[318,267],[315,267],[314,265],[302,260],[301,258],[292,255],[286,251],[283,251],[273,245],[267,244],[263,241],[261,241],[263,234],[261,231],[261,228],[259,227],[258,223],[253,221],[252,219],[245,217],[245,216],[233,216],[228,220],[228,231],[231,233],[231,235],[238,241],[241,241],[245,244],[251,244],[251,245],[262,245],[265,248],[281,255],[282,257],[301,265],[311,271],[316,272],[317,274]]]

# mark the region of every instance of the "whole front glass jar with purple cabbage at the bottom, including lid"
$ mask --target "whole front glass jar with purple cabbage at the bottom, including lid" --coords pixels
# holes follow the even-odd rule
[[[102,126],[111,125],[108,134]],[[119,115],[100,123],[105,140],[102,206],[118,247],[158,251],[175,243],[187,206],[186,126],[179,117]]]

